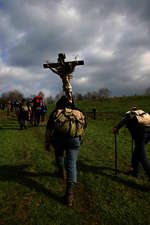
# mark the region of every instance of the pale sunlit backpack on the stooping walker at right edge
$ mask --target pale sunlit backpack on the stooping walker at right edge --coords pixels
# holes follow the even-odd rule
[[[143,110],[135,110],[130,112],[130,118],[136,118],[137,122],[141,126],[150,126],[150,115]]]

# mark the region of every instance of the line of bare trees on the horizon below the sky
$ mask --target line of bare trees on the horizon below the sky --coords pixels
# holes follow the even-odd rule
[[[45,95],[42,91],[39,91],[39,94],[43,97],[43,99],[45,100],[45,102],[47,104],[57,101],[62,96],[62,93],[59,93],[59,94],[56,94],[55,97],[53,97],[53,96],[45,97]],[[144,95],[150,95],[150,87],[148,87],[145,90]],[[9,100],[13,101],[13,102],[14,101],[21,102],[21,100],[23,98],[32,99],[35,96],[36,96],[36,94],[30,95],[28,97],[24,97],[24,94],[21,93],[20,91],[12,90],[12,91],[4,92],[1,94],[0,103],[7,103]],[[100,88],[98,91],[92,91],[92,92],[88,91],[85,94],[76,92],[73,95],[73,97],[76,100],[103,100],[103,99],[107,99],[107,98],[115,97],[115,96],[111,96],[111,91],[108,88]],[[121,97],[121,96],[119,96],[119,97]]]

